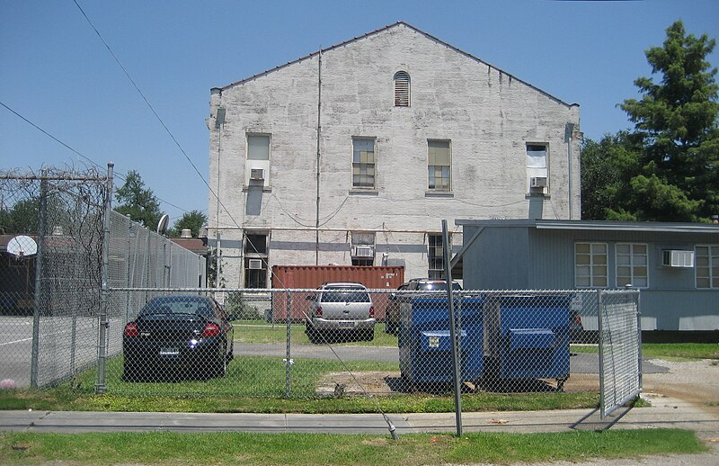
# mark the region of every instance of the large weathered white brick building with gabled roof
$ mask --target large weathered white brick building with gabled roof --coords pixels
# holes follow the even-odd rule
[[[435,275],[443,219],[580,217],[578,105],[404,22],[213,88],[210,115],[227,287],[273,264]]]

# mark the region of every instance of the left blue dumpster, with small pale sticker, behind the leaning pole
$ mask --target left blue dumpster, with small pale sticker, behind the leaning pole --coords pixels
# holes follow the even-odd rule
[[[455,299],[459,336],[460,378],[476,381],[482,377],[481,298]],[[452,381],[452,340],[449,333],[447,298],[400,298],[397,335],[399,368],[410,383]]]

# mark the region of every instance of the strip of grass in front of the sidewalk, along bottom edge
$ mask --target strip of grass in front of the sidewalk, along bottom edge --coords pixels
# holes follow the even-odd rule
[[[703,453],[675,429],[555,434],[0,434],[3,464],[331,464],[386,465],[580,462],[593,458]]]

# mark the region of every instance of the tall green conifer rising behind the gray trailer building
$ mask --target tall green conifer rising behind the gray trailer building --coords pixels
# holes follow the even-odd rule
[[[663,47],[646,58],[652,74],[635,80],[643,97],[621,108],[635,123],[634,146],[621,169],[610,220],[708,221],[719,213],[719,129],[716,68],[706,56],[715,40],[687,35],[681,21],[667,30]]]

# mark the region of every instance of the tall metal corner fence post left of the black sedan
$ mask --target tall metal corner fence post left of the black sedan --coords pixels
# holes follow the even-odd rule
[[[102,231],[102,270],[101,270],[101,291],[100,291],[100,337],[98,338],[97,351],[97,381],[95,382],[95,392],[103,394],[105,392],[106,383],[106,363],[107,363],[107,329],[110,327],[110,321],[107,317],[108,299],[110,291],[108,290],[108,266],[110,264],[110,221],[112,211],[112,168],[113,163],[107,165],[107,184],[105,185],[105,203],[102,212],[104,220],[104,229]]]

